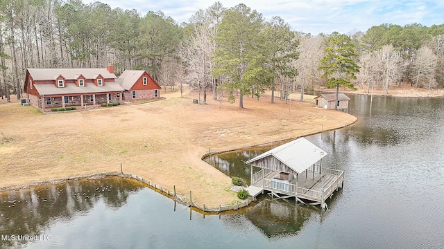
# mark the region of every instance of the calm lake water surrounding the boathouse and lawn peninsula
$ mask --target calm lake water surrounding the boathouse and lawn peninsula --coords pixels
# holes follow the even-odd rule
[[[370,109],[350,97],[356,124],[307,137],[328,153],[323,166],[345,170],[327,212],[264,195],[204,215],[133,181],[76,181],[1,194],[0,235],[40,240],[0,248],[443,248],[444,99],[375,97]],[[248,181],[243,162],[260,152],[209,161]]]

